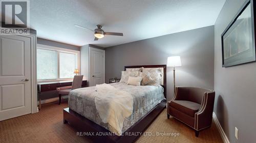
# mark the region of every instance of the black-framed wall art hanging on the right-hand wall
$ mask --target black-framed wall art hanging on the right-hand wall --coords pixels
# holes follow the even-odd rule
[[[256,60],[253,5],[253,0],[247,0],[221,35],[222,67]]]

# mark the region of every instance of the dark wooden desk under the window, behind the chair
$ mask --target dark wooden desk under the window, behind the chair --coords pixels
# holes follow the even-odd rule
[[[46,81],[37,83],[37,93],[39,96],[39,109],[41,108],[41,92],[55,91],[58,87],[66,87],[72,85],[72,80]],[[82,88],[87,87],[87,80],[82,80]]]

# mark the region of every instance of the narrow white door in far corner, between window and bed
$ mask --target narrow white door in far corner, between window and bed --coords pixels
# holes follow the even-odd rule
[[[105,83],[105,50],[90,47],[89,85]]]

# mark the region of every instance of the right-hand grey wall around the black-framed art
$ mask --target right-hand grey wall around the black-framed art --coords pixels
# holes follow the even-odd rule
[[[221,34],[245,0],[226,0],[215,23],[214,111],[230,142],[255,142],[256,63],[222,68]],[[234,137],[239,129],[239,139]]]

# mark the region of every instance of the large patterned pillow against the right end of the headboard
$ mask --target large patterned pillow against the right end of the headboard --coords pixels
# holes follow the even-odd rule
[[[147,85],[160,85],[162,79],[161,68],[142,68],[142,72],[149,75],[153,82],[147,83]]]

